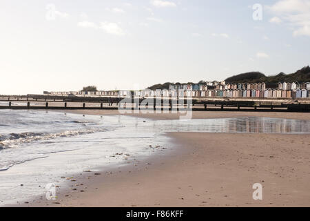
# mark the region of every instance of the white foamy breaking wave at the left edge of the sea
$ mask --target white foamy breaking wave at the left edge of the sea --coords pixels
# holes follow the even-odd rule
[[[0,137],[0,150],[6,148],[15,148],[19,144],[30,143],[34,141],[41,140],[51,140],[60,137],[73,137],[77,135],[85,135],[96,132],[104,132],[106,129],[96,129],[96,130],[82,130],[82,131],[63,131],[61,133],[33,133],[33,132],[24,132],[24,133],[10,133],[5,137]]]

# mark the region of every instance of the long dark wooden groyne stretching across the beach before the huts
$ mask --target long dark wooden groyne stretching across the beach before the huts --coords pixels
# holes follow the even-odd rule
[[[34,109],[34,110],[117,110],[125,97],[59,97],[48,95],[1,96],[0,109]],[[144,104],[149,102],[147,106]],[[141,104],[142,103],[142,104]],[[277,112],[310,112],[310,102],[292,99],[260,98],[195,98],[190,100],[175,98],[135,98],[127,102],[126,109],[149,110],[149,105],[161,111],[277,111]]]

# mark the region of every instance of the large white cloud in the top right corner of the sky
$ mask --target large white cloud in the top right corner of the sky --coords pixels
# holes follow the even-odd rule
[[[270,22],[282,21],[294,36],[310,36],[310,0],[280,0],[266,8],[275,15]]]

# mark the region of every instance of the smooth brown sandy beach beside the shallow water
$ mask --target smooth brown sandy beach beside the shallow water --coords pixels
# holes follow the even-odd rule
[[[100,111],[74,113],[106,115]],[[194,118],[287,117],[309,113],[194,113]],[[152,115],[174,119],[173,115]],[[56,200],[19,206],[309,206],[309,135],[167,133],[177,149],[121,169],[74,176]],[[263,186],[253,200],[252,185]]]

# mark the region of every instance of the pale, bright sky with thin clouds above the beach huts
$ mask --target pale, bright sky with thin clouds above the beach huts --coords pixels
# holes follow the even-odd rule
[[[0,94],[293,73],[310,0],[1,0]]]

